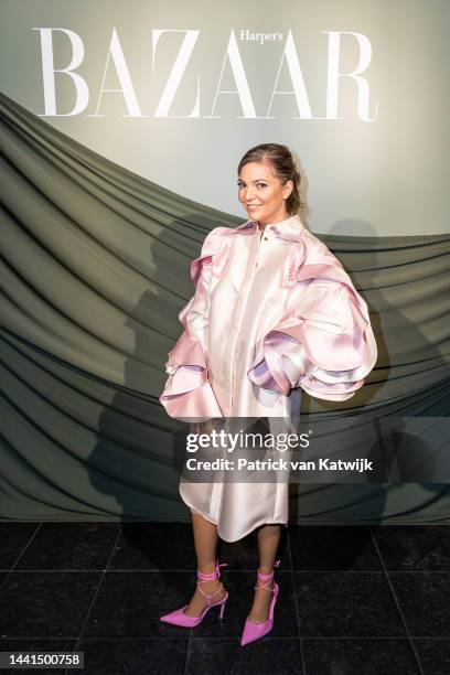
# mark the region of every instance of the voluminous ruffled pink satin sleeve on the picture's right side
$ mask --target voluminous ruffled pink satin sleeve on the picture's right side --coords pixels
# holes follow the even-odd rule
[[[302,287],[292,315],[266,333],[248,377],[288,395],[301,387],[315,398],[346,400],[364,384],[377,358],[366,302],[350,277]],[[297,291],[298,292],[298,291]]]

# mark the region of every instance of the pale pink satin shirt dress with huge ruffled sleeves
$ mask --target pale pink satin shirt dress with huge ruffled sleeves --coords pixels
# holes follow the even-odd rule
[[[302,393],[346,400],[377,358],[366,302],[341,261],[293,215],[216,227],[191,264],[195,292],[180,312],[160,401],[183,421],[265,418],[296,432]],[[224,457],[226,451],[224,450]],[[279,480],[278,480],[279,479]],[[289,483],[180,480],[194,512],[235,542],[288,523]]]

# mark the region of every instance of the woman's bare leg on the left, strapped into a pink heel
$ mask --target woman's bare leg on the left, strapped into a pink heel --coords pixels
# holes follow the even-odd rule
[[[195,554],[197,560],[197,569],[205,575],[208,575],[215,570],[216,562],[216,549],[217,549],[217,525],[214,523],[210,523],[199,513],[194,513],[191,511],[192,516],[192,528],[194,531],[194,544],[195,544]],[[221,583],[219,579],[213,579],[213,581],[202,581],[201,588],[204,593],[211,596],[215,591],[217,592],[214,598],[212,598],[212,602],[217,602],[217,600],[222,600],[225,596],[225,589]],[[206,607],[207,601],[204,596],[199,591],[199,588],[195,589],[195,593],[189,603],[189,607],[184,610],[184,613],[188,617],[200,617],[203,609]]]

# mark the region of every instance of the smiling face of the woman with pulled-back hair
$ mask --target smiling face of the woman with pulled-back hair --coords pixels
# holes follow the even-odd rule
[[[286,200],[293,189],[293,182],[282,185],[267,162],[245,164],[237,179],[238,199],[250,221],[262,225],[279,223],[288,217]]]

